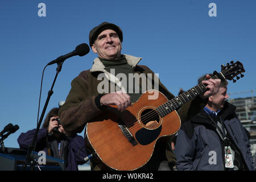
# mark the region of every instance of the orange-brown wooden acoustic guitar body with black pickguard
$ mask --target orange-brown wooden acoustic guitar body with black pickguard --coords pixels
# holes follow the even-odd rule
[[[154,94],[158,94],[158,99],[148,100]],[[164,117],[156,111],[156,107],[167,101],[162,93],[149,90],[123,112],[107,107],[93,122],[87,123],[86,139],[90,147],[113,169],[142,167],[150,160],[156,141],[180,129],[180,118],[175,110]]]

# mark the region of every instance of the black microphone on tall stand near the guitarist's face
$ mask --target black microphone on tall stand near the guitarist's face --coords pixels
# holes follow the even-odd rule
[[[84,56],[84,55],[88,54],[89,52],[90,52],[89,46],[85,43],[82,43],[82,44],[78,45],[74,51],[69,52],[66,55],[58,57],[57,59],[49,62],[47,65],[63,62],[66,59],[68,59],[69,57],[76,56],[76,55]]]

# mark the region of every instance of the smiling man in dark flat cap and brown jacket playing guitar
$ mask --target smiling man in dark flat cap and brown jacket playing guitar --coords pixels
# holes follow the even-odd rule
[[[139,61],[142,60],[141,57],[121,53],[122,41],[123,32],[120,27],[113,23],[103,22],[90,31],[89,44],[98,57],[93,60],[91,69],[82,71],[71,82],[72,88],[65,104],[59,110],[61,125],[67,133],[81,133],[86,123],[92,122],[106,109],[106,106],[116,105],[119,111],[124,111],[136,102],[143,93],[144,82],[148,84],[148,81],[133,82],[133,85],[130,85],[130,82],[132,82],[132,80],[129,80],[130,75],[155,75],[150,68],[139,65]],[[118,78],[120,74],[126,76],[126,84],[123,77],[122,81],[121,78]],[[104,78],[108,80],[107,83],[109,84],[104,85],[104,89],[101,85],[102,75],[105,76]],[[157,82],[159,92],[163,93],[168,100],[174,98],[174,95],[156,78],[152,78],[151,81],[154,84]],[[128,82],[129,84],[127,84]],[[220,80],[209,78],[204,83],[207,85],[208,91],[187,102],[177,111],[181,122],[191,118],[204,108],[207,104],[207,98],[218,91]],[[113,85],[116,89],[114,91],[110,89],[113,88]],[[170,142],[171,137],[167,142],[166,140],[158,142],[159,144],[155,146],[151,159],[139,169],[157,170],[163,160],[172,163],[174,155],[166,155],[170,154],[171,151]],[[123,157],[125,158],[125,156]],[[96,156],[93,156],[91,162],[93,170],[110,169],[98,161]]]

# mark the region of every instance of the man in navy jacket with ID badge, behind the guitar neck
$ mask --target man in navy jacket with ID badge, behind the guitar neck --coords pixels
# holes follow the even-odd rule
[[[199,83],[205,76],[199,78]],[[228,82],[209,97],[208,104],[177,133],[177,170],[254,170],[250,143],[229,102]]]

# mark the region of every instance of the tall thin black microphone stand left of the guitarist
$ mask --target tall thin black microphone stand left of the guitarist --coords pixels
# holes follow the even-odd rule
[[[60,57],[58,57],[57,59],[61,59],[61,58],[62,58],[62,57],[60,56]],[[22,168],[23,168],[24,171],[27,169],[27,165],[30,164],[30,165],[31,165],[31,169],[34,170],[34,165],[35,165],[35,164],[38,164],[38,162],[36,162],[36,160],[34,160],[34,158],[31,156],[31,153],[32,153],[33,148],[35,147],[36,139],[37,139],[37,137],[38,137],[38,131],[39,131],[40,126],[41,126],[41,123],[42,123],[42,121],[43,121],[44,114],[46,113],[46,109],[47,109],[49,100],[50,100],[50,98],[51,98],[51,96],[52,96],[52,94],[53,94],[53,91],[52,91],[53,86],[54,86],[54,84],[55,84],[55,81],[56,81],[56,79],[57,79],[57,76],[59,75],[59,72],[61,71],[62,64],[63,64],[64,61],[65,61],[65,59],[62,60],[61,62],[57,63],[56,75],[55,75],[55,78],[54,78],[54,80],[53,80],[52,87],[51,87],[51,89],[50,89],[49,92],[48,92],[48,97],[47,97],[47,99],[46,99],[46,103],[44,104],[44,108],[43,108],[42,114],[41,114],[41,116],[40,116],[40,119],[39,119],[39,122],[38,122],[38,126],[36,127],[36,133],[35,133],[35,135],[34,135],[34,137],[33,137],[32,144],[31,144],[31,145],[29,146],[29,148],[28,148],[28,152],[27,152],[27,155],[26,155],[26,160],[25,160],[25,162],[24,162],[24,164],[23,164],[23,166],[22,166]]]

